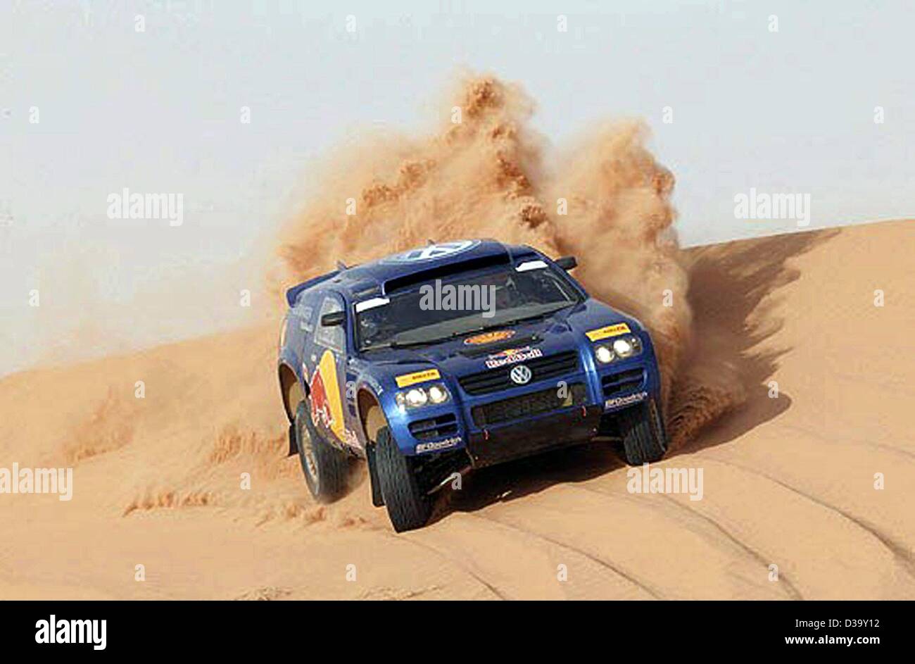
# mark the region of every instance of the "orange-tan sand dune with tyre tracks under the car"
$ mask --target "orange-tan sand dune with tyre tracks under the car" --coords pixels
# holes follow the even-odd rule
[[[0,495],[0,597],[915,598],[913,255],[911,222],[686,253],[690,371],[746,393],[679,422],[662,466],[702,468],[700,501],[630,494],[594,445],[472,475],[404,535],[361,468],[319,506],[285,457],[273,326],[8,376],[0,467],[74,487]]]

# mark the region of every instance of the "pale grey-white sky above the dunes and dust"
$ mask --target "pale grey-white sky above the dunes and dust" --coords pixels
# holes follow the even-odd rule
[[[0,375],[74,340],[126,349],[243,321],[224,293],[258,277],[243,258],[295,211],[309,162],[353,128],[431,125],[462,68],[521,83],[557,145],[644,118],[684,244],[796,227],[736,219],[750,187],[809,193],[812,228],[915,216],[910,3],[319,5],[2,4]],[[183,192],[183,225],[107,219],[124,187]],[[199,301],[153,295],[169,284]]]

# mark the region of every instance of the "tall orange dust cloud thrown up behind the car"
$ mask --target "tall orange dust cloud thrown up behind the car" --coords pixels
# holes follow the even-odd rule
[[[645,147],[644,125],[597,125],[548,160],[530,126],[533,100],[516,85],[466,78],[442,109],[431,136],[361,136],[317,166],[316,195],[280,235],[274,292],[338,259],[360,263],[428,239],[491,237],[573,254],[593,296],[651,330],[675,443],[742,399],[737,379],[715,376],[705,389],[682,373],[694,364],[693,314],[674,178]]]

